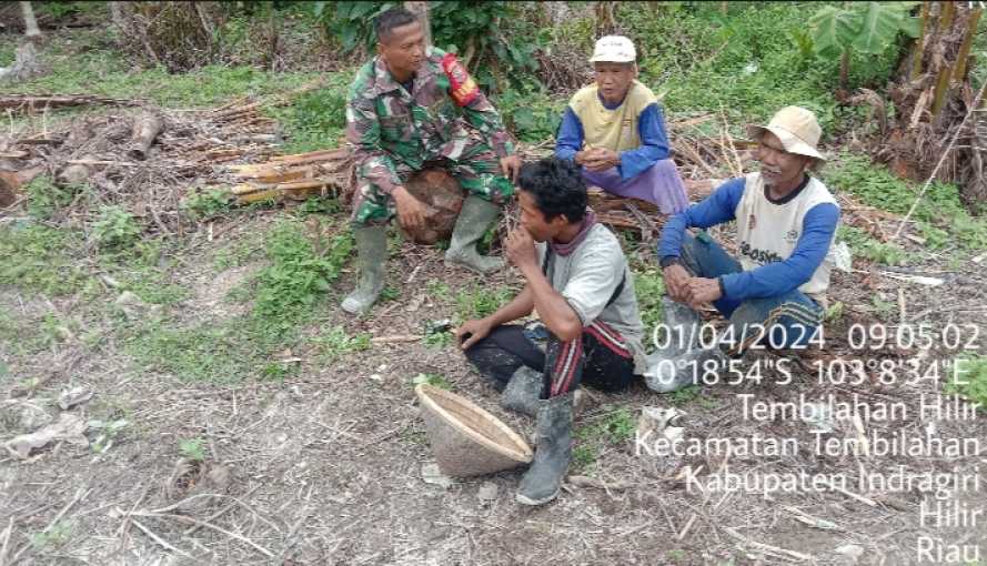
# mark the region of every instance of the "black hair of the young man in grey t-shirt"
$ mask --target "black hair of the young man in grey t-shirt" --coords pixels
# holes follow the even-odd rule
[[[580,166],[567,159],[545,158],[525,163],[517,184],[534,196],[546,222],[565,214],[570,223],[575,223],[586,215],[586,182]]]

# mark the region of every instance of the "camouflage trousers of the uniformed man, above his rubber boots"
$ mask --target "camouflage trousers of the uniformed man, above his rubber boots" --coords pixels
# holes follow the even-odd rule
[[[437,155],[436,161],[430,161],[429,164],[444,166],[470,194],[495,204],[507,203],[514,194],[514,185],[503,175],[501,160],[490,145],[479,140],[465,139],[463,142],[450,143],[446,148],[446,151]],[[402,184],[415,172],[401,161],[394,160],[394,164]],[[357,170],[352,225],[360,228],[386,224],[396,213],[394,199],[370,182],[363,171]]]

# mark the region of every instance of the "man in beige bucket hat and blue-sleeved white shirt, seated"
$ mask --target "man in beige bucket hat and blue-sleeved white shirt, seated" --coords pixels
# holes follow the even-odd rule
[[[747,132],[758,142],[761,170],[725,182],[672,218],[662,232],[658,256],[672,299],[666,300],[666,323],[682,329],[686,340],[685,347],[658,351],[649,360],[652,388],[687,385],[697,365],[722,363],[755,343],[805,346],[822,327],[839,206],[810,175],[825,161],[817,150],[819,124],[810,111],[786,107],[766,127],[752,125]],[[705,232],[696,237],[686,232],[729,221],[736,221],[738,259]],[[719,337],[723,347],[691,347],[695,309],[707,303],[729,320]],[[686,363],[659,364],[663,357]]]

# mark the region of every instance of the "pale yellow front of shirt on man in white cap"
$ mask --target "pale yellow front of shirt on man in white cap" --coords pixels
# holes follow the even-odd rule
[[[616,152],[641,146],[637,118],[648,104],[657,102],[655,93],[634,80],[620,107],[607,110],[600,101],[596,83],[580,89],[568,107],[583,124],[586,148],[606,148]]]

